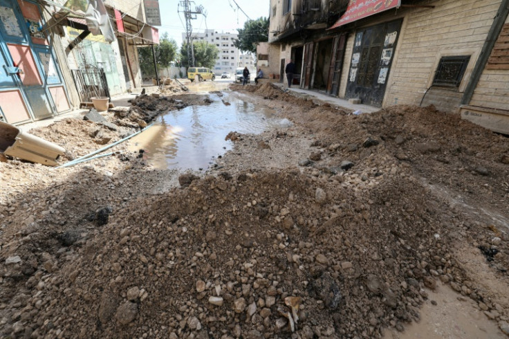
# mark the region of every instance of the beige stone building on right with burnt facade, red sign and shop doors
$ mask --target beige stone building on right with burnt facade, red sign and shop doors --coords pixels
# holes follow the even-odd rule
[[[364,104],[477,107],[483,113],[471,120],[501,121],[509,119],[508,12],[508,0],[271,0],[269,43],[279,55],[266,53],[267,67],[279,66],[282,80],[294,59],[302,88]]]

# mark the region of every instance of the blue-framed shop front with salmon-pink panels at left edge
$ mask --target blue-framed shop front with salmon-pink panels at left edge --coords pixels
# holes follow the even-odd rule
[[[71,109],[43,25],[35,1],[0,0],[0,120],[13,125]]]

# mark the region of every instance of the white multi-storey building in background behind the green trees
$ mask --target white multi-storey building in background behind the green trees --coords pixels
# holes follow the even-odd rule
[[[193,33],[194,40],[202,40],[214,44],[219,50],[219,56],[214,65],[214,73],[221,75],[223,72],[235,73],[239,65],[239,48],[234,46],[234,40],[239,35],[235,33],[219,33],[216,30],[205,30],[203,33]],[[183,41],[186,41],[185,33],[182,33]],[[196,65],[201,66],[201,65]]]

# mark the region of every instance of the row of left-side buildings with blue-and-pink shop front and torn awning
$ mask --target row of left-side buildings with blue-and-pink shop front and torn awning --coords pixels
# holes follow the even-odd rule
[[[137,47],[158,43],[143,1],[104,1],[102,15],[109,17],[111,40],[116,37],[111,43],[92,35],[82,13],[65,3],[0,0],[0,120],[20,125],[51,118],[91,96],[141,86]],[[80,3],[89,4],[100,6]]]

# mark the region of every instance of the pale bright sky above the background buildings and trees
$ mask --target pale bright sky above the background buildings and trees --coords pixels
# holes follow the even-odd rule
[[[185,20],[182,6],[178,6],[181,1],[178,0],[159,0],[161,13],[161,26],[159,36],[165,32],[170,38],[175,39],[178,46],[182,44],[182,33],[185,33]],[[214,29],[218,32],[237,33],[237,28],[243,28],[244,22],[248,20],[240,8],[246,12],[250,19],[259,17],[268,17],[270,12],[270,0],[195,0],[192,8],[202,5],[207,12],[207,17],[196,15],[196,19],[191,21],[193,32],[201,33],[208,29]]]

